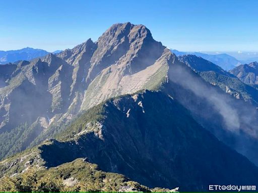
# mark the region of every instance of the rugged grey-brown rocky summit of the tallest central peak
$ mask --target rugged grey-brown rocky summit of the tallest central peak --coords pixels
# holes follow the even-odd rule
[[[111,64],[126,65],[131,74],[138,72],[152,65],[165,48],[153,40],[145,26],[131,23],[111,26],[98,39],[97,44],[87,79]]]

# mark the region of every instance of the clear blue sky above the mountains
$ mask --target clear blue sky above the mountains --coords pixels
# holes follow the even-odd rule
[[[181,51],[258,51],[257,8],[256,0],[0,0],[0,50],[73,48],[130,21]]]

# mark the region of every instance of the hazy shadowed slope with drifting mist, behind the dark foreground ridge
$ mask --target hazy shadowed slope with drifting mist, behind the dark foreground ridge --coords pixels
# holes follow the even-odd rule
[[[219,140],[257,164],[257,110],[206,82],[183,63],[169,67],[167,93],[187,108],[192,116]]]

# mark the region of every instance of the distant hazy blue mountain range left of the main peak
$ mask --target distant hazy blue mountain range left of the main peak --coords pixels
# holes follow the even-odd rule
[[[56,50],[53,53],[58,54],[61,50]],[[47,55],[49,52],[42,49],[23,48],[20,50],[0,51],[0,64],[7,64],[19,60],[32,60],[34,58]]]

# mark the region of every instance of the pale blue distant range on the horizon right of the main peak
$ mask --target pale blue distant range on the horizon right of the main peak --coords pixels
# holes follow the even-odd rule
[[[201,52],[179,52],[178,50],[171,50],[176,56],[182,56],[182,55],[196,55],[200,56],[206,60],[211,61],[214,64],[217,64],[218,66],[222,67],[224,70],[230,70],[234,67],[241,64],[239,60],[234,58],[233,56],[230,56],[228,54],[206,54]]]

